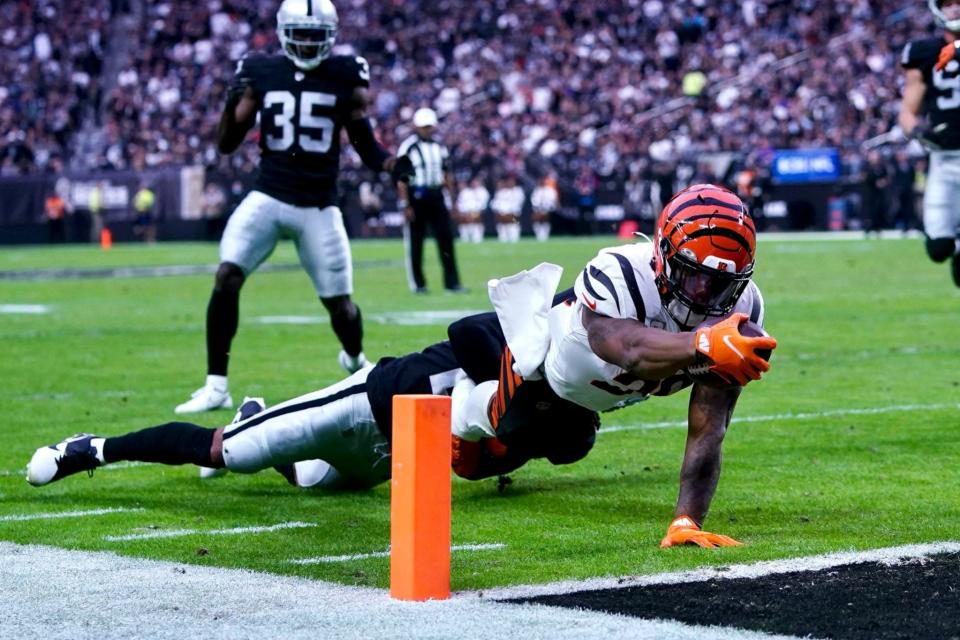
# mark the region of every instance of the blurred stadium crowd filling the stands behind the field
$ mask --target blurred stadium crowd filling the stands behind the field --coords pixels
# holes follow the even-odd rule
[[[0,4],[4,173],[253,169],[253,141],[221,159],[214,131],[236,60],[276,46],[275,0],[128,4],[140,19],[117,33],[136,44],[112,77],[115,4]],[[839,147],[857,172],[861,144],[895,121],[900,48],[932,26],[913,4],[344,0],[337,51],[369,60],[388,147],[416,107],[440,113],[460,180],[552,171],[574,189],[585,173],[629,180],[704,152],[762,167],[802,146]],[[71,157],[84,119],[93,152]],[[349,152],[348,179],[359,166]]]

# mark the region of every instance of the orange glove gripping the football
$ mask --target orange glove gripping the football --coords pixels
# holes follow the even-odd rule
[[[770,370],[770,363],[754,353],[754,349],[775,349],[771,336],[748,338],[740,335],[740,325],[748,319],[745,313],[734,313],[715,325],[697,329],[694,339],[697,351],[710,363],[710,370],[737,384],[759,380]]]

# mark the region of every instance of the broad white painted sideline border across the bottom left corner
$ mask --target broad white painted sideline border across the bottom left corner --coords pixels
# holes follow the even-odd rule
[[[783,636],[0,543],[0,637],[769,640]]]

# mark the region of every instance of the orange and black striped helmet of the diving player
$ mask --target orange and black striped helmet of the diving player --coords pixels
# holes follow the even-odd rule
[[[653,266],[667,311],[692,327],[733,309],[753,275],[757,230],[728,189],[695,184],[660,213]]]

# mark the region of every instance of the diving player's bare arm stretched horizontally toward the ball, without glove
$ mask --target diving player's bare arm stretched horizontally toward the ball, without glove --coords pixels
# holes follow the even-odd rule
[[[643,380],[662,380],[696,359],[692,333],[670,333],[586,308],[583,326],[597,356]]]

